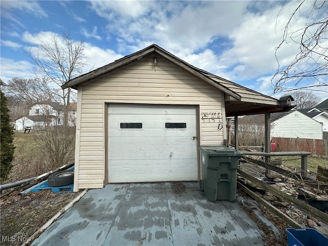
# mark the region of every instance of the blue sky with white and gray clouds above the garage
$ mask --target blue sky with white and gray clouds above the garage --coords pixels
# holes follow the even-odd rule
[[[278,69],[275,48],[298,1],[1,1],[1,78],[34,77],[25,51],[53,35],[83,39],[89,72],[151,44],[187,63],[273,95]],[[311,2],[297,12],[290,30],[304,27]],[[326,14],[327,6],[321,14]],[[319,12],[320,15],[320,12]],[[299,46],[288,40],[279,50],[287,66]],[[323,79],[326,79],[324,77]],[[304,80],[300,86],[327,81]],[[295,88],[290,84],[285,87]],[[312,87],[322,100],[327,87]]]

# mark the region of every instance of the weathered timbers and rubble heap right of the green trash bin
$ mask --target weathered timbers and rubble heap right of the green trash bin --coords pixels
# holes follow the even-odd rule
[[[261,166],[240,163],[238,187],[291,227],[314,228],[328,237],[328,183],[319,181],[316,174],[302,178],[295,173],[268,172]],[[311,206],[314,203],[319,209]]]

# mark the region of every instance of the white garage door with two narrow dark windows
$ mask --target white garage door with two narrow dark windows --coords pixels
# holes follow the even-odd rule
[[[108,108],[109,182],[197,180],[196,107]]]

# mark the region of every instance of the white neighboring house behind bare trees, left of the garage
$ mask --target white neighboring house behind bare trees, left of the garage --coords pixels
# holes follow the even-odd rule
[[[75,126],[76,103],[70,105],[68,116],[69,126]],[[64,105],[52,101],[38,101],[29,108],[29,115],[16,119],[16,129],[24,130],[26,127],[43,129],[46,126],[62,126],[64,123]]]

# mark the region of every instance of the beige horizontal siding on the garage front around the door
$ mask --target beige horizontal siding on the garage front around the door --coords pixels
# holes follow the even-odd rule
[[[79,167],[74,190],[101,188],[105,179],[105,107],[108,103],[199,105],[201,113],[220,113],[222,93],[216,88],[195,79],[185,71],[157,56],[135,61],[122,69],[78,87],[81,95],[79,154],[75,161]],[[224,118],[221,119],[222,125]],[[223,144],[223,128],[219,120],[199,119],[200,144]],[[78,184],[78,185],[77,185]]]

